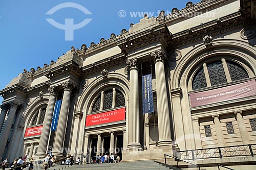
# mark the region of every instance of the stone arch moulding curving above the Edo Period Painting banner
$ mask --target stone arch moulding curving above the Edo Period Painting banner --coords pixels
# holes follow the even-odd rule
[[[254,77],[256,72],[256,50],[248,43],[239,40],[214,40],[211,47],[201,44],[188,52],[173,74],[172,89],[187,88],[191,72],[196,72],[198,65],[204,61],[214,61],[217,56],[229,56],[231,61],[236,61],[243,65],[250,77]],[[184,89],[185,88],[185,89]]]

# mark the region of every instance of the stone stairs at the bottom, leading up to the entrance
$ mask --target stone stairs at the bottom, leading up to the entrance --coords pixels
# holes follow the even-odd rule
[[[99,164],[86,164],[86,165],[72,165],[72,166],[61,166],[51,167],[51,170],[82,170],[82,169],[124,169],[124,170],[153,170],[153,169],[174,169],[181,170],[174,166],[165,166],[153,160],[136,161],[136,162],[120,162],[120,163],[99,163]]]

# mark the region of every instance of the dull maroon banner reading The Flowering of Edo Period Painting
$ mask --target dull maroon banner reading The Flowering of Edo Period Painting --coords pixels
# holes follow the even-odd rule
[[[214,90],[189,94],[191,107],[203,106],[233,99],[240,99],[253,95],[256,95],[255,80]]]

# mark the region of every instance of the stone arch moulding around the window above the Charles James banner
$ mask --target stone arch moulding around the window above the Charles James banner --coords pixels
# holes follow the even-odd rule
[[[96,95],[100,90],[108,86],[118,87],[118,89],[123,92],[127,105],[127,99],[129,99],[129,81],[123,75],[114,73],[109,74],[107,79],[98,78],[90,83],[86,90],[81,94],[76,110],[88,113],[90,105],[93,102],[92,100],[96,99]]]

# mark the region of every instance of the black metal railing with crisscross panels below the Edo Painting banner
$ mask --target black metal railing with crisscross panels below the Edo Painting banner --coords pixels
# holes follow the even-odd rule
[[[225,158],[225,157],[236,157],[236,156],[252,156],[253,157],[254,155],[256,155],[256,144],[179,151],[179,152],[176,152],[175,156],[181,160],[197,160],[197,159]]]

